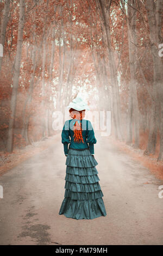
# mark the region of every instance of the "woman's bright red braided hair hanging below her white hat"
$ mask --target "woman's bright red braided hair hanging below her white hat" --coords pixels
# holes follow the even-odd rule
[[[81,111],[77,111],[76,109],[70,108],[69,110],[70,112],[70,117],[73,119],[78,119],[78,120],[82,120],[85,117],[85,109],[81,110]],[[76,121],[76,123],[74,123],[73,126],[73,131],[74,131],[74,142],[83,142],[83,136],[82,136],[82,123],[80,122],[80,125],[78,123],[78,121]]]

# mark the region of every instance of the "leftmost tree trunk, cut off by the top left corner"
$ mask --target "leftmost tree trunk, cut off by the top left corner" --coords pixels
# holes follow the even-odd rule
[[[5,41],[5,31],[9,21],[9,11],[10,11],[10,0],[5,0],[3,18],[1,23],[1,35],[0,35],[0,44],[2,44],[3,47],[4,47],[4,41]],[[0,56],[0,71],[2,67],[2,59],[3,57]]]

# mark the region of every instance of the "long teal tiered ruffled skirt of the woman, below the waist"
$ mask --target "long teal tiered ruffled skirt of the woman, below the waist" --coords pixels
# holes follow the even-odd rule
[[[68,149],[65,195],[59,215],[77,220],[106,216],[97,164],[89,149]]]

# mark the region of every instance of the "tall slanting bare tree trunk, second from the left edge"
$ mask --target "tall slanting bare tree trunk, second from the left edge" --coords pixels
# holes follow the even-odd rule
[[[20,14],[18,20],[18,35],[17,35],[17,48],[15,57],[15,69],[13,77],[13,87],[11,95],[11,116],[9,120],[9,135],[7,141],[7,150],[9,153],[13,149],[13,131],[14,131],[14,121],[16,112],[16,101],[17,101],[17,88],[20,76],[20,66],[21,66],[21,56],[22,56],[22,44],[23,44],[23,28],[24,28],[24,10],[25,10],[25,0],[20,0]]]

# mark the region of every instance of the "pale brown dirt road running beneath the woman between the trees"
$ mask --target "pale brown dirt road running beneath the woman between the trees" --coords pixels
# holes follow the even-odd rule
[[[95,133],[107,215],[74,220],[58,214],[66,170],[59,134],[53,147],[0,176],[0,245],[163,245],[163,182]]]

